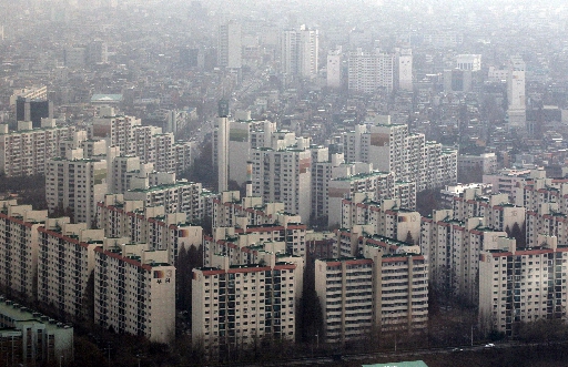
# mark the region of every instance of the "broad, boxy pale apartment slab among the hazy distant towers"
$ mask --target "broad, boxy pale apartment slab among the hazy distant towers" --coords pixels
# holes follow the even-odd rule
[[[348,55],[348,90],[375,93],[379,89],[392,91],[394,86],[395,57],[381,50],[366,52],[362,49]]]

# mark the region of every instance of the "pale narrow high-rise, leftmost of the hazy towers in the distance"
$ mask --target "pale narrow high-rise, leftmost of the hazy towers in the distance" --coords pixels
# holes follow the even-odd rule
[[[230,21],[219,27],[217,65],[229,69],[243,65],[241,24]]]

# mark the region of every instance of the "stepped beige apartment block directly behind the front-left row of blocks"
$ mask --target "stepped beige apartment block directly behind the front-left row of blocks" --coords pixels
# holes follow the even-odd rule
[[[168,263],[175,264],[182,247],[202,244],[201,226],[186,221],[184,213],[166,214],[163,206],[126,201],[123,195],[106,195],[97,204],[98,227],[106,237],[126,237],[130,243],[148,244],[148,249],[168,251]]]

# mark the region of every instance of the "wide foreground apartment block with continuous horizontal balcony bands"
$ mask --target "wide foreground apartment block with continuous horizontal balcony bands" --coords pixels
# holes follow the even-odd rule
[[[384,255],[369,244],[364,257],[316,259],[315,272],[326,343],[343,345],[372,329],[427,326],[428,266],[422,255]]]

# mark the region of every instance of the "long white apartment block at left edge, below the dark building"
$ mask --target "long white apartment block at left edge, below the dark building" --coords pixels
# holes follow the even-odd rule
[[[43,119],[41,125],[32,129],[31,121],[18,122],[18,131],[10,132],[0,124],[0,173],[7,177],[44,173],[47,161],[60,156],[74,126],[57,128],[51,119]]]

